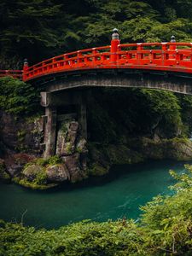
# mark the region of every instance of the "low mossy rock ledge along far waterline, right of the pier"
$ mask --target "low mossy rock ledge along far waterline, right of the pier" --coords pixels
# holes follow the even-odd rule
[[[88,175],[101,176],[110,166],[134,164],[143,160],[192,160],[192,141],[186,138],[127,138],[125,144],[90,144]]]

